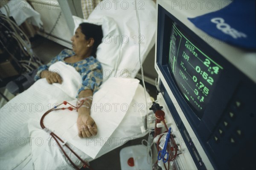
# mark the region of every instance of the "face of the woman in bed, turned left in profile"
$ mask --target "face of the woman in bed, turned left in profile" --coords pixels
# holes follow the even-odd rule
[[[85,35],[81,32],[80,26],[76,29],[75,35],[71,38],[72,48],[75,53],[83,51],[88,45]]]

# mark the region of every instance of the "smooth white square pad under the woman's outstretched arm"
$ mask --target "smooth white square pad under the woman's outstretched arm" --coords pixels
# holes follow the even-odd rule
[[[110,78],[93,95],[91,116],[96,121],[98,134],[80,138],[77,130],[77,112],[61,110],[45,118],[45,126],[88,156],[95,158],[102,146],[122,121],[128,111],[139,81],[131,78]],[[76,104],[76,100],[71,101]]]

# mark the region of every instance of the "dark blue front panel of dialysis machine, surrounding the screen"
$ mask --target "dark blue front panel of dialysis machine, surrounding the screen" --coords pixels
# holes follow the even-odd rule
[[[177,86],[179,82],[175,80],[168,64],[173,23],[177,24],[184,34],[192,37],[190,38],[192,43],[210,54],[214,61],[225,68],[220,73],[207,103],[212,107],[206,107],[201,116],[182,95],[181,89]],[[182,109],[199,140],[196,144],[201,144],[212,166],[215,169],[256,169],[255,83],[160,5],[157,26],[157,66],[175,96],[179,109]],[[198,169],[206,169],[195,148],[193,137],[187,133],[175,103],[172,102],[165,85],[161,82],[160,89],[195,164]]]

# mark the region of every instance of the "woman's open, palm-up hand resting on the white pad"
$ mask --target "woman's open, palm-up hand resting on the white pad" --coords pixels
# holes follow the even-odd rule
[[[98,129],[95,121],[89,114],[79,114],[77,118],[79,137],[86,138],[97,134]]]

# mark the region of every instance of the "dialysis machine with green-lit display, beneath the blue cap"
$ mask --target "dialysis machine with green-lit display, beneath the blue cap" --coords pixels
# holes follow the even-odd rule
[[[209,43],[187,18],[212,10],[186,2],[157,1],[157,101],[183,148],[172,169],[255,169],[256,53]]]

